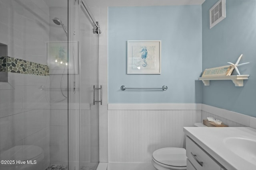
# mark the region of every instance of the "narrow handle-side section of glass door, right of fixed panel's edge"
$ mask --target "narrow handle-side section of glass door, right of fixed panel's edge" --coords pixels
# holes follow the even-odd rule
[[[96,170],[99,162],[99,100],[98,49],[99,35],[93,33],[94,27],[83,4],[80,4],[80,101],[81,101],[81,140],[80,169]],[[95,91],[95,94],[93,93]],[[94,96],[93,96],[94,95]]]

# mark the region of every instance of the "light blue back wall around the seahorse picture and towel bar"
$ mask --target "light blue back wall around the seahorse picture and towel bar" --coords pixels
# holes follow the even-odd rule
[[[161,40],[161,74],[126,74],[127,40]],[[108,103],[201,103],[195,85],[201,72],[200,5],[108,8]],[[168,90],[122,91],[122,85]]]

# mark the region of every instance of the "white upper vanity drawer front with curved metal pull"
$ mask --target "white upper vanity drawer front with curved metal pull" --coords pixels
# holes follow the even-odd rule
[[[221,166],[187,136],[186,156],[196,170],[221,170]]]

